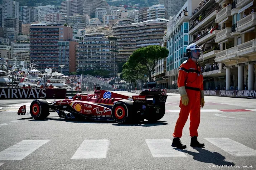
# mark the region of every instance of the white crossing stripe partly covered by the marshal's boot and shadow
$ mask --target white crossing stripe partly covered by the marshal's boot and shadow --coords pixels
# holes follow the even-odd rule
[[[153,157],[186,157],[180,149],[172,148],[170,139],[146,139]]]

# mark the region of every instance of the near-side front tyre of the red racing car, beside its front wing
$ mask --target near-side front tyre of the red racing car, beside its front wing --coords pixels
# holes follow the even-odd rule
[[[35,99],[30,104],[30,115],[36,120],[44,120],[49,116],[49,104],[44,99]]]

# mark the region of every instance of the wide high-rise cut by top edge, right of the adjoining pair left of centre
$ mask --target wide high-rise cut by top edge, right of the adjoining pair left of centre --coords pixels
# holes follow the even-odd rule
[[[109,7],[106,0],[84,0],[83,15],[89,15],[91,18],[94,18],[97,8],[109,9]]]

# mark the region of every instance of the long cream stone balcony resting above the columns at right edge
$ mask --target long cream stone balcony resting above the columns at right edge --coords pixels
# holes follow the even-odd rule
[[[255,60],[255,53],[256,53],[256,39],[251,41],[242,43],[232,48],[228,48],[227,50],[218,52],[216,54],[215,61],[216,62],[229,62],[232,59],[236,59],[236,63],[239,62],[238,60],[243,58],[243,56],[247,57],[247,61],[251,59]],[[253,56],[254,55],[254,56]]]

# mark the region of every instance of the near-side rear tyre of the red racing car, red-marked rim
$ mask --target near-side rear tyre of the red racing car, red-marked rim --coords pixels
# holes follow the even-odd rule
[[[129,122],[129,105],[126,103],[114,104],[111,109],[111,116],[116,123],[122,124]]]

